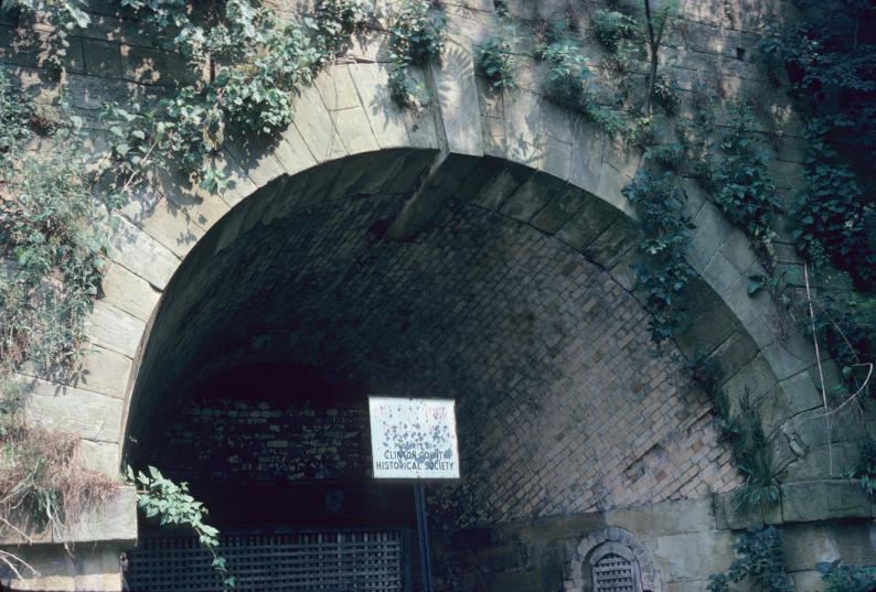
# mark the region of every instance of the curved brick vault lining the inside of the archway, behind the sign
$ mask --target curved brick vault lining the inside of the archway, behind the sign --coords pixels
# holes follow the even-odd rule
[[[394,162],[420,162],[414,155]],[[377,157],[343,164],[360,171],[353,182],[323,165],[306,182],[268,185],[192,250],[143,348],[129,460],[154,461],[191,394],[222,373],[295,364],[354,385],[348,407],[366,392],[458,400],[463,478],[430,499],[448,526],[697,497],[738,483],[680,352],[652,353],[648,313],[606,270],[631,248],[629,235],[594,247],[599,225],[621,217],[544,175],[478,162],[425,228],[395,240],[389,229],[409,197],[399,185],[416,175],[400,165],[372,183]],[[302,185],[319,187],[319,198],[292,207]],[[552,209],[558,194],[570,209],[591,211],[577,238],[545,230],[564,216]],[[520,219],[526,208],[532,223]],[[596,237],[583,252],[571,243],[588,232]],[[281,403],[275,395],[268,407]],[[191,445],[172,453],[204,453]]]

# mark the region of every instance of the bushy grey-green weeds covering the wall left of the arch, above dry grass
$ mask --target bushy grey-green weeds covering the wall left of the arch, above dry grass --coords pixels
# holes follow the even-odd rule
[[[79,356],[108,248],[78,121],[0,74],[0,375],[57,376]],[[43,142],[41,150],[29,144]]]

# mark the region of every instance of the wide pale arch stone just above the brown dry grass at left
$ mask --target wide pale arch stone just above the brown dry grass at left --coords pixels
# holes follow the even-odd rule
[[[29,421],[95,442],[118,442],[119,399],[39,379],[29,383],[28,391],[24,417]]]

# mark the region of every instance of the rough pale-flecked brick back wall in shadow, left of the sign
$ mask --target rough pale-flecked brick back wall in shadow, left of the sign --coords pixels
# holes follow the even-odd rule
[[[277,484],[364,480],[367,409],[236,399],[191,401],[167,426],[154,462],[183,480]]]

